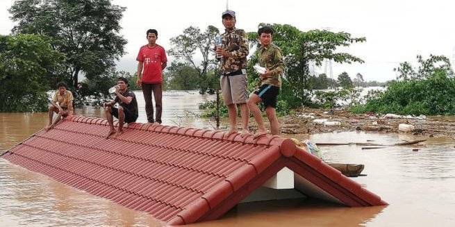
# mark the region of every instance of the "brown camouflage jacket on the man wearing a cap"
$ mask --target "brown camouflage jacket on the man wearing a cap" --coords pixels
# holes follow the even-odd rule
[[[249,53],[247,33],[242,29],[226,29],[222,34],[223,49],[229,56],[223,57],[220,65],[222,74],[229,74],[247,67]]]

